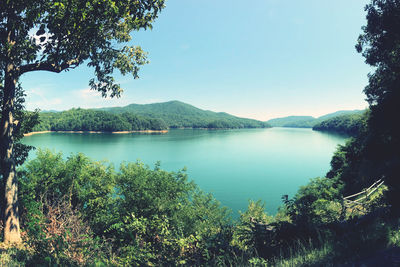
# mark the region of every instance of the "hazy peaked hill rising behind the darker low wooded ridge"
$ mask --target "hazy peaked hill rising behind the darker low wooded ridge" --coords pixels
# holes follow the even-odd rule
[[[131,104],[125,107],[102,108],[113,114],[133,113],[162,119],[170,128],[267,128],[268,123],[235,117],[224,112],[202,110],[192,105],[169,101],[154,104]]]

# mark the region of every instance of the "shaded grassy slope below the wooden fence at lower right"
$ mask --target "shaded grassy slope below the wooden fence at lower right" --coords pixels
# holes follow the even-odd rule
[[[343,236],[320,238],[321,245],[298,241],[273,259],[254,257],[254,267],[336,266],[379,262],[393,250],[400,248],[400,219],[376,218],[367,225],[354,225]],[[396,256],[400,258],[399,256]],[[387,260],[387,259],[385,259]],[[391,264],[391,262],[389,262]],[[397,266],[397,265],[396,265]]]

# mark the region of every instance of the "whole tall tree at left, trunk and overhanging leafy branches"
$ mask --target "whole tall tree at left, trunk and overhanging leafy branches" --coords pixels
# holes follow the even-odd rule
[[[0,163],[4,183],[4,241],[19,242],[15,175],[15,97],[21,75],[60,73],[83,63],[94,68],[89,84],[104,97],[122,90],[112,76],[138,78],[146,53],[130,33],[151,28],[164,0],[3,0],[0,2]]]

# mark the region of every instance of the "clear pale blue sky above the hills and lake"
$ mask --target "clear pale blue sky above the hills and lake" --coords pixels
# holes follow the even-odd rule
[[[116,75],[120,99],[90,91],[82,66],[23,76],[27,108],[180,100],[260,120],[363,109],[371,69],[354,45],[368,2],[169,0],[153,30],[134,33],[151,62],[138,80]]]

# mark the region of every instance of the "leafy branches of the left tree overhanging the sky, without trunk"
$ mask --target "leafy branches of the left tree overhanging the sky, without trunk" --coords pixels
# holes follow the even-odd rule
[[[84,62],[95,70],[92,89],[119,96],[114,69],[137,78],[147,62],[130,33],[151,24],[164,1],[2,1],[1,69],[11,62],[18,76],[37,70],[61,72]],[[4,78],[1,72],[0,77]]]

